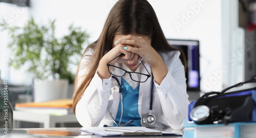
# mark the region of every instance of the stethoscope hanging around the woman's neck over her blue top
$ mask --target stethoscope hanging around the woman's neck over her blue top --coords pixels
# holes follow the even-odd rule
[[[112,87],[111,88],[111,91],[119,91],[119,94],[120,94],[120,101],[121,101],[121,115],[120,115],[120,121],[119,123],[117,123],[115,121],[115,119],[112,117],[111,113],[110,113],[110,110],[109,110],[109,107],[108,107],[108,111],[110,113],[110,116],[112,118],[112,120],[114,121],[114,123],[117,125],[117,126],[125,126],[129,123],[132,123],[134,120],[131,119],[130,121],[128,121],[127,123],[123,124],[123,125],[120,125],[121,121],[122,121],[122,116],[123,116],[123,101],[122,101],[122,88],[121,88],[121,85],[120,85],[120,82],[119,80],[115,77],[115,76],[112,76],[112,78],[114,78],[116,81],[117,81],[117,84],[118,84],[118,87],[115,86],[115,87]],[[156,123],[156,116],[154,114],[152,114],[152,107],[153,107],[153,97],[154,97],[154,77],[152,77],[152,85],[151,85],[151,98],[150,98],[150,112],[147,113],[144,117],[143,117],[143,123],[145,123],[146,125],[154,125]]]

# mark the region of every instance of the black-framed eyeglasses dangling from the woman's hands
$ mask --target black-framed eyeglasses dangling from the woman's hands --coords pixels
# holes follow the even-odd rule
[[[117,56],[116,58],[120,57],[122,54],[120,54],[119,56]],[[115,60],[116,58],[114,58],[113,60]],[[113,61],[111,60],[109,63],[106,64],[106,66],[108,66],[109,72],[110,74],[114,75],[114,76],[118,76],[118,77],[122,77],[124,76],[126,73],[130,74],[130,77],[133,81],[136,82],[145,82],[149,77],[151,77],[150,72],[147,71],[145,65],[142,63],[142,65],[144,66],[144,68],[146,69],[148,74],[143,74],[143,73],[139,73],[139,72],[130,72],[130,71],[126,71],[122,68],[116,67],[114,65],[111,65],[110,63]],[[141,59],[140,59],[141,61]],[[112,67],[112,69],[110,68]],[[118,70],[118,71],[116,71]],[[115,72],[112,72],[115,71]]]

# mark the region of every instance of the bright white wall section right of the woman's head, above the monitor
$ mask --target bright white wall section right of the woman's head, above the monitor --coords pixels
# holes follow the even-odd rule
[[[200,41],[201,90],[220,91],[222,78],[211,80],[222,65],[221,1],[150,1],[167,38]],[[164,4],[159,4],[164,3]]]

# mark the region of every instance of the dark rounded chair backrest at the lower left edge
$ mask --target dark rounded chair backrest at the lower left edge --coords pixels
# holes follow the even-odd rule
[[[12,128],[13,106],[12,103],[0,96],[0,128]]]

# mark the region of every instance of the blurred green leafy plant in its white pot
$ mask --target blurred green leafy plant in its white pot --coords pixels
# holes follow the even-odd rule
[[[19,69],[26,65],[28,71],[36,78],[34,100],[61,98],[55,95],[61,95],[58,93],[63,95],[68,90],[66,87],[68,82],[70,84],[74,82],[75,75],[71,72],[70,66],[78,65],[84,44],[88,43],[89,35],[86,31],[82,31],[81,27],[70,25],[69,33],[57,38],[55,20],[50,21],[48,25],[38,25],[33,18],[23,27],[10,26],[6,21],[0,23],[0,26],[3,30],[8,30],[11,37],[10,66]],[[56,87],[61,90],[57,90]]]

